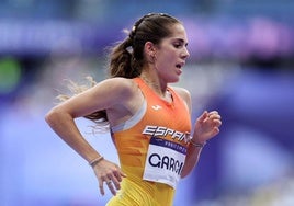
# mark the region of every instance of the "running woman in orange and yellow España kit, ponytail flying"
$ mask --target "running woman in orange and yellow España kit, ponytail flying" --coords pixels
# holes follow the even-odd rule
[[[177,183],[219,133],[217,111],[204,111],[192,133],[191,96],[178,82],[189,57],[183,24],[162,13],[139,19],[110,56],[110,78],[68,96],[45,119],[93,168],[109,206],[171,206]],[[120,164],[82,137],[74,119],[108,123]],[[105,184],[104,184],[105,183]]]

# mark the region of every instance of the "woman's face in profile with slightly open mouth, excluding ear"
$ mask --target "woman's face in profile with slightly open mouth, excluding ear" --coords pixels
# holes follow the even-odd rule
[[[188,38],[182,24],[170,27],[172,34],[163,38],[156,49],[155,66],[161,80],[177,82],[189,57]]]

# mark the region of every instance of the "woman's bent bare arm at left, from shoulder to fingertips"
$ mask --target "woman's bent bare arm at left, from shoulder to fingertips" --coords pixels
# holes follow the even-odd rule
[[[82,137],[75,124],[75,118],[124,104],[129,95],[127,80],[108,79],[53,107],[46,114],[45,119],[66,144],[88,162],[91,162],[101,154]],[[103,182],[111,180],[115,188],[118,190],[121,179],[124,176],[120,168],[106,160],[102,160],[98,164],[95,168],[99,168],[99,172],[95,169],[95,174],[99,179],[99,185],[103,186]],[[115,194],[115,188],[113,185],[110,186],[113,194]],[[104,194],[103,187],[101,193]]]

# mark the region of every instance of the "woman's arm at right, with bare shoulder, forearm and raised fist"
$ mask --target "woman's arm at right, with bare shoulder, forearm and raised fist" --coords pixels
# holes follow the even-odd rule
[[[190,92],[182,88],[174,88],[174,91],[185,101],[191,114],[192,101]],[[208,139],[215,137],[219,133],[220,125],[220,115],[217,111],[204,111],[202,115],[199,116],[192,135],[192,141],[194,144],[189,145],[185,163],[181,173],[182,178],[186,176],[197,164],[203,148],[200,146],[204,146]]]

